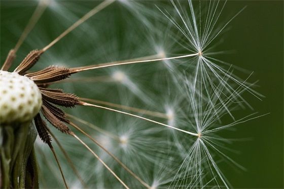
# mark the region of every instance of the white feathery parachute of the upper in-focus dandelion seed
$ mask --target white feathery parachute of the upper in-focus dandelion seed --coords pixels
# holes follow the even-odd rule
[[[209,52],[209,45],[242,10],[228,22],[219,26],[218,22],[226,2],[223,5],[220,1],[199,2],[200,9],[198,11],[194,7],[195,2],[188,1],[187,5],[184,5],[181,2],[171,2],[178,15],[177,18],[172,17],[168,12],[161,11],[176,27],[177,32],[180,32],[185,38],[184,40],[180,40],[180,44],[178,45],[184,47],[184,49],[189,52],[197,52],[197,56],[193,57],[191,61],[183,62],[183,65],[186,66],[186,70],[188,70],[187,74],[191,75],[195,80],[194,83],[196,83],[196,86],[194,86],[194,88],[205,89],[204,92],[209,95],[210,92],[206,91],[206,88],[212,88],[213,90],[218,91],[219,87],[223,86],[222,88],[228,91],[228,93],[233,93],[233,86],[237,85],[257,98],[259,98],[259,96],[262,97],[262,95],[251,88],[252,84],[248,83],[246,80],[243,81],[228,72],[222,65],[220,66],[215,63],[218,60],[212,60],[210,57],[210,55],[214,53]],[[205,7],[206,4],[208,9],[203,10],[202,7]],[[190,13],[188,13],[187,9],[190,10]],[[218,61],[218,63],[222,63],[222,61]],[[231,98],[232,101],[235,102],[245,102],[244,98],[237,93],[234,96],[231,96]],[[250,107],[248,103],[246,103],[246,105]]]

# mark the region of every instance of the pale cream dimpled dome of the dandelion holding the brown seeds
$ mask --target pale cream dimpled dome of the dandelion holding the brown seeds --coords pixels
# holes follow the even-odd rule
[[[0,70],[0,122],[31,121],[42,107],[42,95],[37,85],[16,72]]]

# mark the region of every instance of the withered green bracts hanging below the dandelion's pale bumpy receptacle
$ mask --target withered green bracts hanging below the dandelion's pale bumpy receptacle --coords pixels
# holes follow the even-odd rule
[[[0,125],[0,188],[38,188],[33,144],[37,131],[30,123]]]

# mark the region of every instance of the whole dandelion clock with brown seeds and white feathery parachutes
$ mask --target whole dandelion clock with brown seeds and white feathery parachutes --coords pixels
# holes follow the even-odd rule
[[[74,2],[39,2],[0,71],[1,187],[39,186],[34,153],[40,171],[50,174],[41,165],[48,164],[55,175],[50,181],[40,178],[45,187],[63,187],[59,177],[65,187],[230,187],[218,161],[241,166],[224,154],[228,140],[216,133],[256,118],[234,118],[235,104],[249,106],[243,92],[261,96],[251,89],[254,84],[234,75],[231,66],[211,57],[220,53],[211,48],[238,13],[217,26],[225,4],[199,2],[195,8],[192,1],[186,7],[170,2],[173,11],[161,3],[155,12],[154,4],[137,1],[86,2],[80,9],[68,9]],[[89,12],[88,3],[96,4]],[[8,72],[22,44],[34,43],[33,36],[27,36],[45,10],[66,13],[62,26],[67,29],[56,31],[52,40],[34,36],[43,48],[28,53]],[[153,14],[156,20],[150,18]],[[133,27],[137,22],[141,26]],[[73,35],[68,38],[69,33]],[[82,43],[83,35],[89,38]],[[67,40],[73,43],[62,51],[69,53],[69,61],[55,48],[70,44]],[[77,44],[82,49],[77,50]],[[41,61],[44,68],[38,66]],[[48,66],[48,61],[56,66]],[[75,73],[78,76],[70,78]],[[74,83],[84,88],[80,97]],[[227,114],[233,122],[222,124]],[[46,156],[36,133],[54,158]],[[62,133],[73,137],[66,139]]]

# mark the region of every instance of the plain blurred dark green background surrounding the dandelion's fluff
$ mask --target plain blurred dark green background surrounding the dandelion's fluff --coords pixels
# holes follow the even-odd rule
[[[218,58],[254,71],[251,81],[259,80],[256,90],[266,97],[261,101],[247,95],[246,99],[257,115],[270,114],[242,123],[228,134],[228,138],[244,139],[230,146],[240,152],[230,158],[246,171],[222,169],[235,188],[283,188],[283,1],[229,1],[224,15],[230,17],[231,10],[235,13],[245,6],[229,24],[230,30],[218,47],[234,52]],[[17,41],[9,29],[19,29],[28,19],[23,16],[16,27],[3,20],[8,16],[13,16],[9,9],[1,9],[1,63]]]

